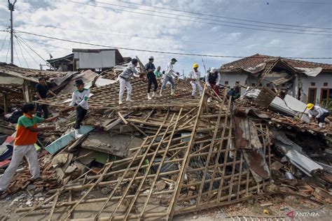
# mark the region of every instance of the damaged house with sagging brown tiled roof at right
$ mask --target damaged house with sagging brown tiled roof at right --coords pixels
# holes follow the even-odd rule
[[[221,84],[276,88],[305,103],[332,98],[332,64],[252,55],[221,66]]]

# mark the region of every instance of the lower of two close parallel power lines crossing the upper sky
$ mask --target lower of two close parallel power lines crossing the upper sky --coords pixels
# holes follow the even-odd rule
[[[277,33],[307,34],[307,35],[314,35],[314,36],[331,36],[331,34],[315,34],[315,33],[303,33],[303,32],[292,32],[292,31],[280,31],[280,30],[258,29],[258,28],[251,28],[251,27],[241,27],[241,26],[228,25],[228,24],[219,24],[219,23],[213,23],[213,22],[203,22],[203,21],[198,21],[198,20],[188,20],[188,19],[179,18],[179,17],[167,17],[165,15],[153,15],[151,13],[139,13],[139,12],[134,12],[132,10],[123,10],[123,9],[118,9],[118,8],[109,8],[109,7],[104,7],[104,6],[96,6],[96,5],[92,5],[92,4],[89,4],[89,3],[81,3],[81,2],[77,2],[77,1],[69,1],[69,2],[78,3],[78,4],[86,5],[86,6],[98,7],[98,8],[107,8],[107,9],[111,9],[111,10],[120,10],[120,11],[129,12],[129,13],[140,14],[140,15],[165,17],[165,18],[170,18],[170,19],[174,19],[174,20],[183,20],[183,21],[187,21],[187,22],[198,22],[198,23],[202,23],[202,24],[214,24],[214,25],[219,25],[219,26],[224,26],[224,27],[235,27],[235,28],[240,28],[240,29],[251,29],[251,30],[258,30],[258,31],[272,31],[272,32],[277,32]],[[184,15],[177,15],[177,16],[184,16]],[[221,21],[219,21],[219,22],[221,22]]]

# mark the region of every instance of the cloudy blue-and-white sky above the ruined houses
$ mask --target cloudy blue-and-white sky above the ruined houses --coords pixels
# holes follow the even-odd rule
[[[3,0],[1,30],[8,28],[9,18],[8,2]],[[120,49],[123,56],[137,55],[143,63],[153,55],[162,69],[176,57],[179,62],[174,68],[185,73],[195,62],[204,71],[202,59],[207,68],[219,67],[238,59],[236,56],[256,53],[332,57],[331,0],[18,0],[14,29],[19,39],[14,39],[14,63],[30,68],[46,64],[43,59],[49,59],[50,54],[62,57],[72,48],[98,47],[20,31],[120,48],[196,54]],[[0,32],[0,44],[0,62],[10,62],[8,33]],[[307,60],[332,64],[332,59]]]

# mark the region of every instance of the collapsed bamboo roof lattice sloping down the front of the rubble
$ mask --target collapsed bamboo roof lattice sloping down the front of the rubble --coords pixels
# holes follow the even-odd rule
[[[231,101],[225,95],[219,97],[219,105],[212,110],[205,91],[199,104],[188,112],[184,108],[168,111],[155,125],[146,118],[146,126],[158,129],[130,150],[131,157],[106,163],[99,175],[77,180],[88,180],[87,184],[54,190],[57,196],[86,190],[75,201],[53,199],[53,209],[66,208],[60,219],[69,218],[80,204],[90,202],[100,204],[89,215],[95,220],[172,219],[179,213],[229,204],[262,191],[268,179],[256,182],[242,150],[234,148]],[[268,128],[259,122],[255,127],[270,165]],[[167,187],[160,187],[160,180],[165,180]],[[88,199],[98,187],[111,191],[104,198]]]

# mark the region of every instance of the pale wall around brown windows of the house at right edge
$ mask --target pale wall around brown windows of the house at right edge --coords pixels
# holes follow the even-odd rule
[[[314,83],[314,86],[312,86],[311,83]],[[324,83],[328,83],[327,86],[324,86]],[[308,97],[308,90],[309,88],[315,88],[316,89],[316,104],[320,103],[321,99],[321,89],[332,89],[332,72],[331,73],[319,73],[316,77],[310,77],[306,76],[305,74],[302,75],[302,89],[305,95]],[[330,94],[330,97],[332,97],[332,94]],[[304,101],[307,102],[307,101]]]

